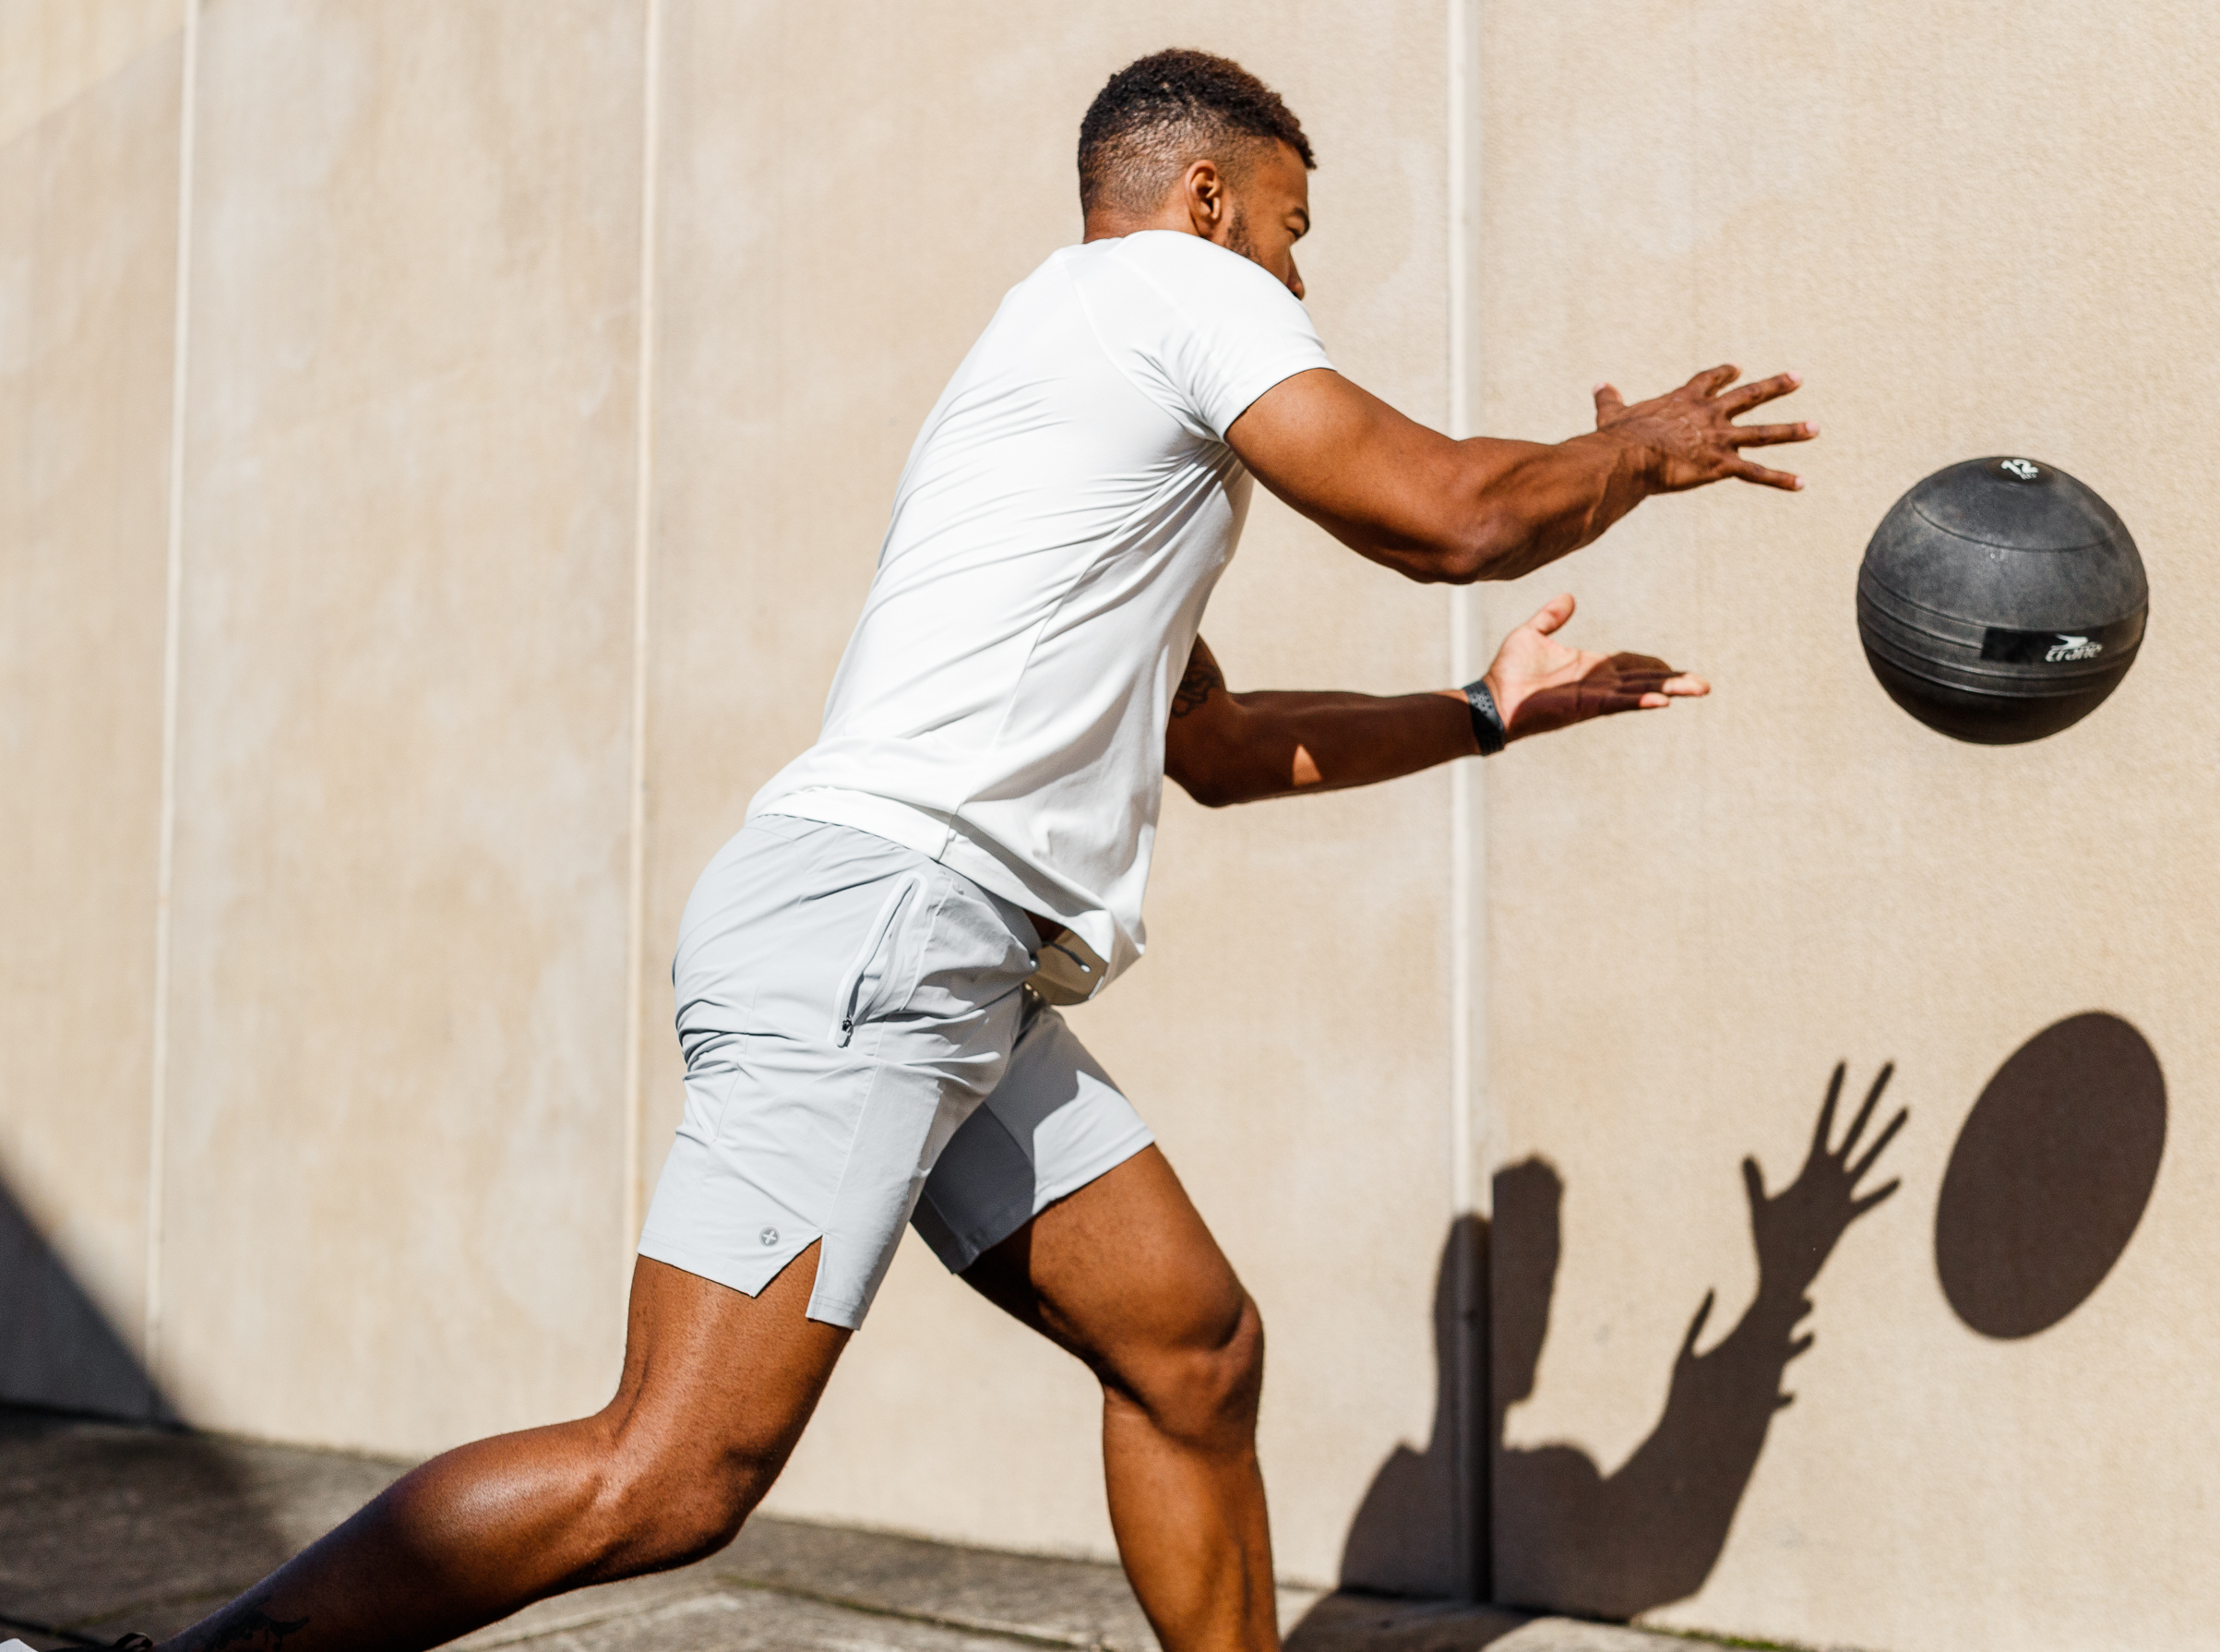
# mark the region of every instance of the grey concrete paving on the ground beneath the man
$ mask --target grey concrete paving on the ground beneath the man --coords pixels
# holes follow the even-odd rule
[[[0,1639],[171,1634],[406,1463],[0,1408]],[[1623,1628],[1283,1590],[1290,1652],[1667,1652]],[[757,1519],[724,1554],[460,1641],[533,1652],[1017,1652],[1157,1641],[1114,1565]]]

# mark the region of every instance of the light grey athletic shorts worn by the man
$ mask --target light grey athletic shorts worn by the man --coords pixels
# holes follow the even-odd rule
[[[961,1272],[1152,1137],[1023,984],[1026,913],[852,826],[757,815],[679,921],[686,1119],[639,1255],[750,1297],[813,1243],[864,1321],[901,1223]]]

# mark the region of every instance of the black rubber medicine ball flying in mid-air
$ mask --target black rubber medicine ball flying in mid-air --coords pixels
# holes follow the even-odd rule
[[[2113,508],[2034,460],[1936,471],[1880,520],[1858,568],[1858,637],[1889,699],[1982,746],[2056,735],[2105,704],[2149,606]]]

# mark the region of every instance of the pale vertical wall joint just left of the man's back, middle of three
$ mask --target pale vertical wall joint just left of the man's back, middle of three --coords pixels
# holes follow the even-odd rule
[[[642,144],[639,144],[639,366],[633,413],[633,704],[624,913],[624,1235],[619,1288],[630,1290],[630,1259],[644,1206],[639,1132],[642,1041],[646,1037],[648,955],[648,557],[655,542],[655,238],[662,173],[664,7],[646,0]]]

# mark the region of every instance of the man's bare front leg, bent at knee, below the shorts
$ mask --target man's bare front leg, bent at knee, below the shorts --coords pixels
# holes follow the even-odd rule
[[[1101,1379],[1110,1525],[1166,1652],[1276,1648],[1263,1321],[1170,1161],[1143,1148],[963,1279]]]

